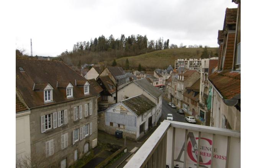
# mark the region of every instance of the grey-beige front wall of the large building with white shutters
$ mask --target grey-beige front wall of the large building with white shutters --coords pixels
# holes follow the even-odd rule
[[[85,118],[85,103],[92,102],[92,115]],[[74,107],[82,105],[83,118],[74,121]],[[67,109],[67,124],[41,133],[41,116]],[[72,132],[74,129],[92,123],[92,135],[75,142],[73,145]],[[47,107],[35,108],[31,110],[30,115],[30,133],[31,133],[31,160],[32,166],[37,163],[43,163],[43,167],[59,167],[61,160],[67,160],[67,167],[74,163],[74,151],[78,150],[78,158],[84,154],[84,145],[89,142],[89,149],[92,147],[92,140],[97,138],[97,97],[90,97],[71,102],[49,105]],[[68,147],[61,149],[61,135],[68,133]],[[80,132],[79,132],[80,133]],[[46,142],[53,139],[54,154],[46,158]]]

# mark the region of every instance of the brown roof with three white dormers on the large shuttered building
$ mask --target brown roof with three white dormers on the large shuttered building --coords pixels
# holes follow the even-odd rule
[[[19,67],[24,71],[20,71]],[[93,86],[90,86],[90,94],[84,95],[84,87],[76,86],[75,79],[79,84],[86,82],[85,78],[61,61],[16,59],[16,88],[29,108],[97,95]],[[66,88],[57,88],[57,81],[71,82],[74,86],[73,98],[67,99]],[[43,89],[48,83],[53,87],[53,102],[44,103]],[[33,90],[34,86],[38,90]]]

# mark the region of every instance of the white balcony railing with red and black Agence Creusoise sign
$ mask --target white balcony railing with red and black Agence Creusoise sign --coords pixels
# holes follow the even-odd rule
[[[229,129],[164,120],[124,168],[240,168],[240,136]]]

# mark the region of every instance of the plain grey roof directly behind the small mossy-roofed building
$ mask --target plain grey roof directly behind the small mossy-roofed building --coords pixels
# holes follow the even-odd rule
[[[133,81],[136,85],[144,89],[146,92],[151,94],[156,99],[162,94],[162,91],[154,87],[152,84],[148,82],[147,79],[138,79],[136,81]]]

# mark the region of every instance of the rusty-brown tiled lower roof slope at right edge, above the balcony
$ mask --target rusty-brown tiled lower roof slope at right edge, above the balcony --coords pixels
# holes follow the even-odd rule
[[[208,77],[209,81],[222,95],[223,99],[232,99],[241,94],[240,71],[215,72]]]

